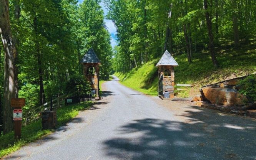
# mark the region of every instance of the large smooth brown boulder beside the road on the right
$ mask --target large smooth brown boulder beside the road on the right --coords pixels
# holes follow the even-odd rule
[[[206,101],[212,104],[225,106],[243,106],[248,99],[238,91],[229,88],[211,88],[203,87],[201,94]]]

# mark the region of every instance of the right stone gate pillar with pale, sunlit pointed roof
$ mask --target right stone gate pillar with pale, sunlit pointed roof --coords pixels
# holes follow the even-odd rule
[[[166,50],[158,67],[158,96],[163,98],[174,98],[174,67],[178,66],[173,56]]]

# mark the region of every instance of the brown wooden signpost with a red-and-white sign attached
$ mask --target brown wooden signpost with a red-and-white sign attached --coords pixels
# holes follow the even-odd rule
[[[13,109],[13,120],[14,120],[14,137],[20,139],[21,128],[22,128],[22,107],[25,106],[25,98],[12,98],[11,107]]]

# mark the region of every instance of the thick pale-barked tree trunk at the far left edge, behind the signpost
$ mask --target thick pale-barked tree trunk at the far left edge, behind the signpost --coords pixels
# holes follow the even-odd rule
[[[17,98],[15,91],[16,48],[12,39],[8,0],[0,0],[0,35],[5,51],[3,132],[8,133],[13,130],[11,99]]]

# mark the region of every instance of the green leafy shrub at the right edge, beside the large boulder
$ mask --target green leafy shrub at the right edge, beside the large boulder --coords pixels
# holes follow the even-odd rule
[[[241,80],[239,92],[246,96],[249,101],[256,101],[256,75],[251,75]]]

